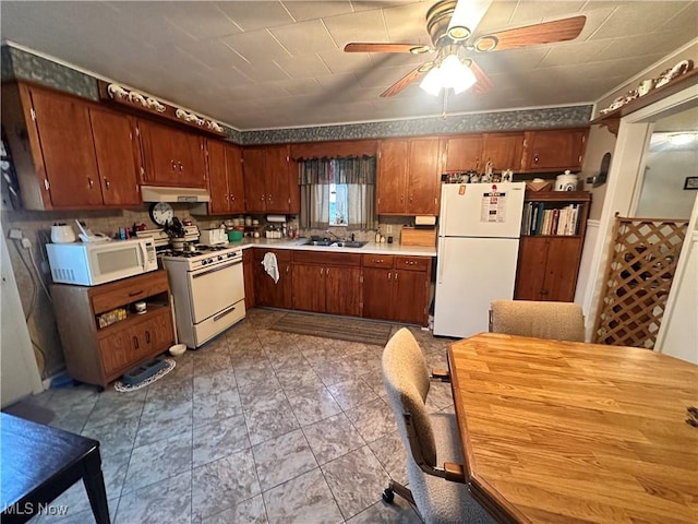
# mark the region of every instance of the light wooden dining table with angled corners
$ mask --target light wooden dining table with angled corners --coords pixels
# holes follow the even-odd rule
[[[698,366],[496,333],[448,359],[470,492],[498,522],[698,522]]]

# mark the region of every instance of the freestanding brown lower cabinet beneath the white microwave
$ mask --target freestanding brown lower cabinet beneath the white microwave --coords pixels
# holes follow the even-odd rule
[[[100,286],[51,286],[58,332],[70,376],[105,388],[174,342],[167,273],[155,271]],[[131,306],[145,301],[135,314]],[[127,318],[106,327],[99,317],[124,309]]]

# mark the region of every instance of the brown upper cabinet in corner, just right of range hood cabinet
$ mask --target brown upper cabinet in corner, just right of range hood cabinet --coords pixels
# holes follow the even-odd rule
[[[243,213],[242,150],[220,140],[206,142],[208,153],[209,214]]]

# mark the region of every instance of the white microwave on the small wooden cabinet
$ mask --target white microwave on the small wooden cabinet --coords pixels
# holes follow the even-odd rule
[[[97,286],[157,270],[152,238],[47,243],[46,252],[55,283]]]

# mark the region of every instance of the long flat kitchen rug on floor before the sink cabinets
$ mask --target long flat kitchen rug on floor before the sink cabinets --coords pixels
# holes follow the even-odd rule
[[[342,319],[322,314],[287,313],[270,327],[299,335],[385,346],[393,325],[368,320]]]

